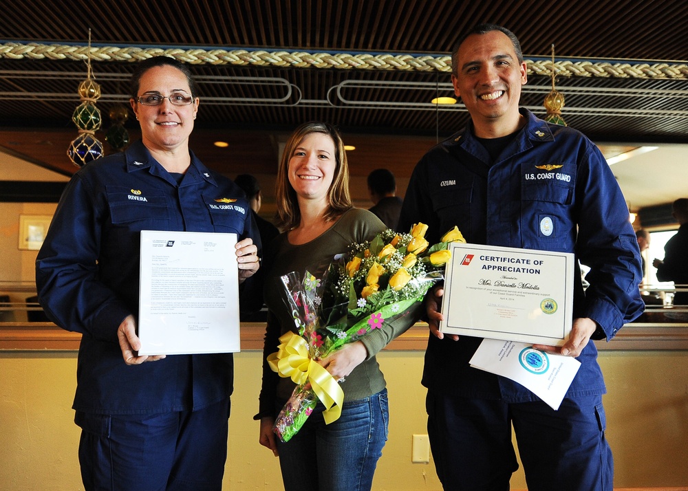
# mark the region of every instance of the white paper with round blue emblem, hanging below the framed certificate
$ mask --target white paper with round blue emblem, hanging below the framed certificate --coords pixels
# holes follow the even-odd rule
[[[552,355],[523,342],[484,339],[471,367],[496,373],[526,387],[555,411],[573,382],[581,362]]]

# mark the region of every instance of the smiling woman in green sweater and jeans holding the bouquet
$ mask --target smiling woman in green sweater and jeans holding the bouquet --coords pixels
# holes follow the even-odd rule
[[[336,254],[385,230],[367,210],[353,208],[349,170],[341,136],[331,124],[301,125],[289,138],[277,171],[278,225],[286,230],[272,244],[266,261],[265,301],[268,323],[263,384],[259,400],[260,444],[279,455],[287,491],[369,490],[387,440],[389,410],[385,378],[375,355],[413,323],[413,316],[385,323],[361,340],[344,345],[321,364],[341,382],[341,417],[326,425],[318,404],[299,433],[279,441],[272,425],[294,390],[266,362],[277,351],[279,336],[296,332],[284,300],[280,276],[306,270],[320,278]]]

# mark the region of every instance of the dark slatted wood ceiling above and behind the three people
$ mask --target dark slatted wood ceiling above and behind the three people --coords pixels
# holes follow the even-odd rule
[[[438,59],[464,30],[486,21],[513,30],[533,61],[548,60],[552,44],[557,62],[628,61],[642,70],[640,61],[666,61],[674,70],[669,76],[557,76],[557,89],[566,96],[563,117],[597,142],[688,140],[685,1],[5,0],[0,146],[67,175],[76,170],[65,151],[77,134],[71,118],[87,65],[58,59],[56,47],[84,47],[89,29],[100,53],[178,48],[188,54],[197,48],[201,56],[244,49],[274,58],[326,52]],[[103,89],[97,103],[103,130],[110,124],[109,109],[127,104],[133,69],[131,60],[106,58],[92,60]],[[449,72],[442,69],[323,69],[283,59],[239,65],[190,56],[201,96],[191,146],[206,164],[230,176],[268,175],[291,129],[327,120],[359,149],[350,154],[352,174],[387,166],[404,179],[438,138],[466,122],[460,104],[440,111],[429,104],[437,94],[452,94]],[[528,78],[522,105],[543,115],[550,76],[530,72]],[[131,119],[127,128],[136,137]],[[96,133],[101,141],[103,133]],[[215,140],[230,146],[216,149]]]

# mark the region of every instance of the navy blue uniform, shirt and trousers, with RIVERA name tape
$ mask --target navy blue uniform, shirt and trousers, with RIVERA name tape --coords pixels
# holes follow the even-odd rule
[[[130,314],[138,317],[141,230],[231,232],[260,250],[244,192],[193,153],[175,178],[136,142],[72,177],[36,259],[36,287],[47,316],[83,334],[73,408],[83,430],[84,483],[172,489],[171,474],[185,483],[178,489],[219,490],[232,354],[167,356],[137,366],[122,359],[117,329]],[[241,285],[242,300],[249,285],[250,279]],[[180,448],[189,469],[175,459]]]

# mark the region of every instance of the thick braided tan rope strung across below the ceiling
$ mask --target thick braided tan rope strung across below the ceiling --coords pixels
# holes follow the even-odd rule
[[[136,62],[151,56],[172,56],[193,65],[257,65],[294,68],[337,68],[402,70],[415,72],[451,72],[451,56],[411,54],[328,54],[264,50],[203,50],[160,47],[87,47],[78,45],[44,45],[38,43],[4,43],[0,57],[13,60],[72,60],[95,62]],[[552,61],[526,59],[530,74],[551,76]],[[555,61],[555,75],[566,77],[665,78],[688,79],[685,63],[608,63],[593,61]]]

